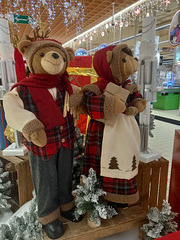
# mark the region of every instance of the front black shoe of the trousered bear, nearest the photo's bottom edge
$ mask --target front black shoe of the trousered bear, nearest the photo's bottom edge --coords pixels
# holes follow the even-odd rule
[[[58,219],[43,225],[42,228],[50,239],[60,238],[64,234],[63,224]]]

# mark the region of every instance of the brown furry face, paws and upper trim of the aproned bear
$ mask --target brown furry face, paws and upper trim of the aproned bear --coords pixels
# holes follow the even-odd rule
[[[106,60],[110,65],[114,81],[118,85],[123,85],[128,77],[137,71],[138,62],[133,58],[132,51],[126,44],[117,45],[112,51],[107,51]],[[136,84],[126,86],[126,89],[130,91],[130,94],[138,91]],[[102,94],[102,91],[100,91],[97,85],[88,84],[81,92],[71,95],[70,105],[80,109],[83,114],[87,114],[83,104],[83,93],[86,91],[92,91],[97,96]],[[128,106],[126,109],[124,103],[122,103],[117,96],[114,96],[114,98],[111,97],[110,99],[107,98],[106,100],[105,109],[107,108],[107,114],[105,114],[105,118],[110,118],[112,114],[121,113],[124,112],[124,110],[127,115],[135,115],[142,112],[146,107],[146,100],[142,98],[135,99],[131,106]]]

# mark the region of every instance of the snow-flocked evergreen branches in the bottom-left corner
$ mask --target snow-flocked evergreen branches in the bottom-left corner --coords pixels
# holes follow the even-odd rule
[[[21,217],[14,216],[8,224],[0,226],[2,240],[43,240],[42,225],[37,219],[37,199],[34,197],[28,212]]]

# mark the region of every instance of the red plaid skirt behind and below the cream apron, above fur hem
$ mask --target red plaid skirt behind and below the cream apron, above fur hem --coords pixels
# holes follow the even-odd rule
[[[86,135],[85,155],[82,169],[82,174],[86,176],[88,175],[89,169],[93,168],[96,171],[97,176],[100,177],[103,130],[103,123],[93,119],[90,120]],[[137,193],[136,177],[130,180],[108,177],[101,178],[102,187],[106,192],[120,195],[132,195]]]

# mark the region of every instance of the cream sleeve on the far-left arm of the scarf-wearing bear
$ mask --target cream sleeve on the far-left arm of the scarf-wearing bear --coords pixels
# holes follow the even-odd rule
[[[37,119],[32,112],[24,109],[16,88],[4,95],[3,106],[8,125],[20,132],[29,122]]]

